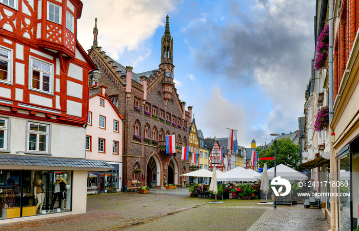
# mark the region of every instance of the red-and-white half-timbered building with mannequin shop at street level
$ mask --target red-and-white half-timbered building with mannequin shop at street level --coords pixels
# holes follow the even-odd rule
[[[87,171],[112,168],[85,160],[96,66],[76,40],[82,6],[0,3],[0,223],[85,213]]]

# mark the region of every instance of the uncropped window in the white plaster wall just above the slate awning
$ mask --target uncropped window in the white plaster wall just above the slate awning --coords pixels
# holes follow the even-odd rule
[[[49,151],[49,125],[28,123],[28,150]]]

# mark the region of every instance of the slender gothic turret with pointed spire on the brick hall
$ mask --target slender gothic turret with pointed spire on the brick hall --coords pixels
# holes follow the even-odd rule
[[[165,34],[161,40],[161,64],[159,64],[159,70],[164,73],[164,79],[162,82],[163,87],[163,99],[167,108],[168,101],[171,100],[171,95],[174,88],[173,83],[173,38],[170,33],[170,25],[168,22],[168,15],[166,16]]]

